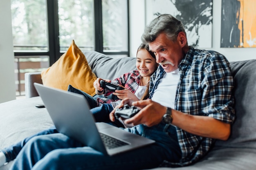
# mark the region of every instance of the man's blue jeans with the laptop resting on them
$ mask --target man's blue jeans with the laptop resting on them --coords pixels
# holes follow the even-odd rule
[[[140,170],[180,161],[175,127],[160,123],[125,130],[156,143],[110,157],[61,133],[41,135],[28,141],[11,170]]]

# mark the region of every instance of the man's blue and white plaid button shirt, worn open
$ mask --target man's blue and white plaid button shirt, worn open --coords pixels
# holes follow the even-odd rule
[[[180,80],[175,97],[175,110],[190,115],[209,116],[231,124],[235,119],[233,77],[229,62],[215,51],[190,47],[179,65]],[[159,66],[150,78],[150,98],[154,94],[164,69]],[[214,139],[200,137],[176,127],[182,151],[179,163],[164,161],[162,166],[186,166],[202,158],[214,144]]]

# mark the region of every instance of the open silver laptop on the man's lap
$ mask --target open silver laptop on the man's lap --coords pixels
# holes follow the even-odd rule
[[[111,156],[155,142],[110,124],[95,123],[83,95],[38,83],[34,83],[34,86],[58,132],[80,141],[85,146]]]

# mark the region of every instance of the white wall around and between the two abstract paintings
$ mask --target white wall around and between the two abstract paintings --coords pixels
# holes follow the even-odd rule
[[[137,48],[145,26],[145,1],[129,0],[130,3],[130,56],[136,57]],[[256,29],[256,28],[255,28]],[[256,59],[256,48],[220,48],[221,0],[213,0],[213,35],[211,50],[218,51],[232,61]],[[208,50],[208,49],[207,49]]]

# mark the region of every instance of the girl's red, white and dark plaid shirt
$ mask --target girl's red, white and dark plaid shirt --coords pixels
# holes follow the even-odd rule
[[[121,84],[132,93],[135,93],[137,88],[139,87],[140,79],[141,79],[141,75],[139,74],[139,71],[132,70],[129,73],[125,73],[124,75],[121,75],[119,78],[114,79],[113,81],[111,81],[111,83],[115,85]],[[103,103],[110,104],[111,102],[120,100],[120,99],[115,100],[114,96],[111,95],[112,93],[113,93],[112,91],[108,91],[106,89],[106,93],[104,94],[104,97],[106,98],[101,98],[101,97],[97,98],[98,106],[100,106]]]

